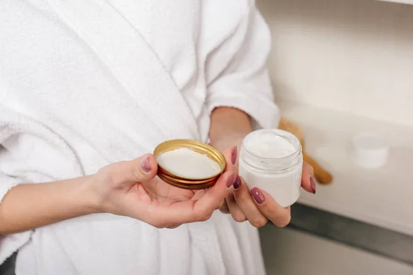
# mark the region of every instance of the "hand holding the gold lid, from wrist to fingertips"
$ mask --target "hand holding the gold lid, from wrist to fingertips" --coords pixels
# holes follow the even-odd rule
[[[204,190],[184,190],[156,177],[153,155],[117,162],[90,177],[89,190],[99,212],[145,221],[156,228],[176,228],[182,223],[206,221],[233,192],[235,173],[224,173]]]

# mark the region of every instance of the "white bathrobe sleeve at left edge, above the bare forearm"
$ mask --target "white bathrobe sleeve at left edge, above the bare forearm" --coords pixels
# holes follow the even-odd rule
[[[0,102],[0,203],[18,184],[82,175],[76,155],[57,133]]]

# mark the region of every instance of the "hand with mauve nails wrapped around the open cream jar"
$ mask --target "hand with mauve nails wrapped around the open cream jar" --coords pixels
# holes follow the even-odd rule
[[[227,137],[226,140],[214,142],[212,146],[224,153],[226,170],[238,173],[238,151],[243,137]],[[227,148],[223,151],[223,148]],[[315,193],[314,171],[310,164],[304,162],[301,186],[307,192]],[[268,220],[282,228],[290,223],[290,207],[282,208],[268,193],[258,188],[250,192],[244,181],[238,176],[233,185],[235,191],[226,197],[220,206],[221,212],[231,213],[235,221],[248,220],[256,228],[264,226]]]

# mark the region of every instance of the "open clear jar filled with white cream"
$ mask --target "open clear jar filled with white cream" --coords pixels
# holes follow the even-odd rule
[[[264,190],[282,207],[299,198],[302,167],[301,144],[291,133],[258,130],[246,135],[242,142],[240,177],[250,190]]]

